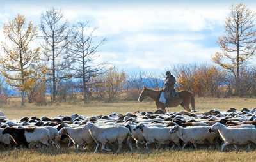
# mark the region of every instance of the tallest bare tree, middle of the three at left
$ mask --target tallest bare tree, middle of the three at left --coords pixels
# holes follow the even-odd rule
[[[72,29],[68,26],[67,20],[63,20],[61,10],[51,8],[47,10],[41,17],[40,29],[43,33],[45,61],[49,62],[48,75],[52,82],[52,101],[56,101],[56,82],[58,78],[65,76],[57,76],[60,71],[64,71],[70,64],[69,45],[74,39]],[[61,72],[61,74],[63,74]]]

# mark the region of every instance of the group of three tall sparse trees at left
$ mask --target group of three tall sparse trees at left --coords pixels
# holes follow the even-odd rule
[[[86,101],[86,82],[106,71],[105,63],[95,63],[97,49],[105,39],[97,38],[94,32],[89,22],[71,26],[62,11],[55,8],[42,13],[38,26],[27,22],[23,15],[4,24],[6,42],[1,43],[1,74],[20,91],[21,105],[26,96],[33,101],[35,93],[43,91],[42,96],[47,87],[51,87],[51,101],[55,102],[63,80],[70,79],[83,80]],[[43,40],[41,45],[31,48],[36,39]]]

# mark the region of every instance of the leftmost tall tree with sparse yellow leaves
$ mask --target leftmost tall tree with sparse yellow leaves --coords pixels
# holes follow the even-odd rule
[[[21,92],[21,105],[25,103],[26,89],[36,77],[36,66],[40,60],[40,48],[31,50],[29,45],[34,40],[37,29],[32,22],[26,23],[22,15],[4,24],[3,33],[6,42],[1,43],[4,55],[0,57],[1,74],[11,86]]]

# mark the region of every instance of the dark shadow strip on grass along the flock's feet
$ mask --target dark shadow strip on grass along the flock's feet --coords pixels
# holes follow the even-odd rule
[[[251,151],[255,151],[256,147],[251,147]],[[26,154],[26,156],[28,156],[28,154],[40,154],[40,155],[47,155],[47,156],[58,156],[61,154],[93,154],[94,148],[90,148],[89,150],[84,151],[84,149],[80,149],[78,152],[76,152],[76,149],[74,149],[74,147],[72,148],[67,148],[67,147],[61,147],[60,149],[56,149],[55,147],[42,147],[42,148],[31,148],[31,149],[26,149],[26,148],[20,148],[20,149],[15,149],[15,148],[0,148],[0,159],[4,158],[6,156],[10,156],[12,155],[13,157],[17,157],[19,158],[20,156],[22,156],[23,154]],[[198,149],[194,149],[193,147],[186,147],[185,149],[150,149],[150,151],[148,152],[146,149],[141,148],[141,149],[135,149],[134,151],[129,151],[127,148],[124,147],[124,149],[122,149],[122,152],[120,152],[120,154],[139,154],[139,155],[154,155],[154,154],[165,154],[165,153],[184,153],[184,152],[208,152],[208,153],[214,153],[214,152],[220,152],[220,148],[208,148],[208,147],[203,147],[200,146],[198,147]],[[113,152],[99,152],[97,154],[113,154],[116,155],[115,153],[115,149],[113,149]],[[228,146],[227,149],[225,149],[225,151],[223,153],[228,153],[228,152],[248,152],[246,150],[245,146],[241,146],[239,147],[239,150],[236,151],[236,149],[234,149],[234,147],[232,147],[232,145]]]

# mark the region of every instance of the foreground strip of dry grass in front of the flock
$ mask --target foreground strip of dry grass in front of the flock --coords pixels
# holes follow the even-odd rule
[[[185,151],[153,151],[150,154],[143,152],[124,153],[124,154],[93,154],[92,152],[76,153],[74,149],[19,149],[5,151],[0,153],[0,161],[17,161],[17,162],[37,162],[37,161],[138,161],[138,162],[156,162],[156,161],[255,161],[255,151],[252,152],[220,152],[211,150],[185,150]]]

